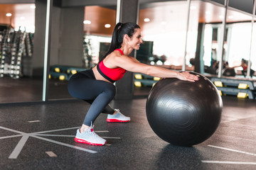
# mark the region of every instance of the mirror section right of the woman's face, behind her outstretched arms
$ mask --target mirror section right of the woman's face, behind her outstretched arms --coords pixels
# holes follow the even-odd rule
[[[181,70],[186,45],[186,6],[186,1],[140,5],[139,26],[144,42],[137,51],[137,60],[156,67]],[[134,95],[146,96],[158,80],[158,77],[134,74]]]

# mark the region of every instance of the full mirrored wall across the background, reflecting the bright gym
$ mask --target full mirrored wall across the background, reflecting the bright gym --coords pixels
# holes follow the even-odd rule
[[[191,1],[189,18],[187,1],[139,4],[138,23],[144,43],[137,50],[137,59],[175,70],[182,70],[185,62],[187,71],[207,77],[218,77],[223,59],[222,77],[255,79],[252,15],[235,9],[239,6],[230,2],[232,8],[228,7],[222,46],[225,7],[218,3]],[[53,6],[49,99],[71,98],[68,79],[76,72],[94,67],[105,54],[117,16],[117,6],[61,8],[61,15],[60,8]],[[44,38],[38,41],[34,36],[36,6],[0,4],[0,11],[0,103],[41,101]],[[66,22],[65,17],[69,18]],[[147,95],[158,79],[134,74],[134,95]]]

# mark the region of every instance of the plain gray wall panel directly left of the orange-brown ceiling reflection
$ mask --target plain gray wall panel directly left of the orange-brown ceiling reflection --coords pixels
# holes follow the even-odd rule
[[[60,56],[63,65],[82,66],[84,7],[62,8],[60,18]],[[70,52],[68,52],[70,50]]]

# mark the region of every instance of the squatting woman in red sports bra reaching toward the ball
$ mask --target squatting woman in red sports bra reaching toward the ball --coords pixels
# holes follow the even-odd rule
[[[152,77],[175,77],[186,81],[196,81],[198,77],[188,72],[174,72],[161,67],[142,64],[129,57],[132,50],[139,50],[142,44],[140,27],[136,23],[117,23],[114,27],[110,49],[99,64],[92,69],[74,74],[68,83],[68,91],[75,98],[91,103],[82,127],[77,130],[75,142],[89,145],[105,145],[106,140],[93,131],[92,123],[100,113],[107,113],[108,122],[128,122],[129,117],[108,104],[114,98],[114,81],[122,79],[124,73],[138,72]]]

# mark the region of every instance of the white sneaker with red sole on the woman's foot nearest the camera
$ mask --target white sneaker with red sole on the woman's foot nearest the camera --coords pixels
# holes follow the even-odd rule
[[[91,125],[90,128],[83,133],[80,133],[80,130],[78,129],[77,134],[75,135],[75,142],[97,146],[105,145],[107,141],[97,135],[93,128],[94,125]]]

